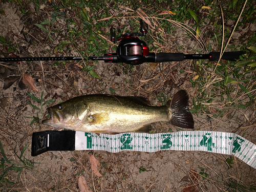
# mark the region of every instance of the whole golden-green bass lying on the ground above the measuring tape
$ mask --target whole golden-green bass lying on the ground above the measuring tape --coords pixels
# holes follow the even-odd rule
[[[151,106],[143,97],[115,95],[83,95],[47,108],[51,118],[42,124],[73,131],[118,134],[146,133],[154,122],[166,121],[185,128],[194,128],[188,110],[185,90],[177,92],[163,106]]]

